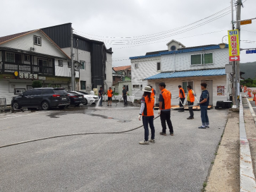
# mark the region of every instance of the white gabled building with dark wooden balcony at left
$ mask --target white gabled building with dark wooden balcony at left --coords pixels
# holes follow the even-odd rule
[[[70,57],[42,30],[0,37],[0,98],[12,97],[32,88],[34,80],[43,87],[70,87]],[[79,68],[76,66],[76,82]]]

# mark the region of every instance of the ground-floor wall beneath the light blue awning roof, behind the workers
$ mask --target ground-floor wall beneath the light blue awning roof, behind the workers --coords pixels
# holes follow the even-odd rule
[[[202,80],[212,80],[212,104],[215,106],[216,102],[218,100],[228,100],[228,87],[227,87],[227,81],[226,76],[209,76],[209,77],[195,77],[195,78],[170,78],[170,79],[162,79],[162,80],[148,80],[148,83],[152,85],[153,88],[158,89],[158,87],[155,87],[155,83],[166,83],[166,89],[168,89],[171,92],[172,99],[171,104],[172,105],[178,105],[179,100],[176,99],[176,97],[179,96],[179,89],[178,85],[182,86],[183,81],[193,81],[194,82],[194,91],[197,93],[197,99],[200,99],[201,95],[201,81]],[[218,96],[217,95],[217,86],[224,85],[225,86],[225,95]],[[141,95],[140,95],[141,96]],[[187,97],[187,94],[186,94]],[[158,100],[158,99],[157,99]],[[186,99],[185,99],[186,103]],[[197,104],[197,100],[195,99],[195,104]]]

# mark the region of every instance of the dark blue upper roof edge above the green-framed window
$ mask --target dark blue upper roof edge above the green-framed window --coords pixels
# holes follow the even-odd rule
[[[226,44],[226,48],[228,48],[228,44]],[[141,59],[141,58],[147,58],[147,57],[159,57],[161,55],[168,55],[168,54],[179,54],[183,52],[193,52],[193,51],[204,51],[204,50],[210,50],[210,49],[221,49],[219,48],[219,45],[214,45],[210,47],[200,47],[200,48],[192,48],[192,49],[184,49],[179,51],[167,51],[167,52],[160,52],[159,54],[154,55],[148,55],[148,56],[137,56],[137,57],[130,57],[129,59]]]

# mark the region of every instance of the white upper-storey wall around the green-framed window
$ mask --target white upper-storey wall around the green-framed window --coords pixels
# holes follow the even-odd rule
[[[214,64],[194,65],[190,64],[192,54],[213,53]],[[169,54],[161,56],[162,72],[164,71],[185,71],[209,68],[224,68],[229,64],[228,48],[212,49],[206,51],[186,52],[179,54]]]

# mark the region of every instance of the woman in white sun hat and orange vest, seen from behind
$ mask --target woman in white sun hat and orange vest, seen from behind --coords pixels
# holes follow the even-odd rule
[[[151,88],[149,86],[143,89],[142,106],[140,107],[140,114],[138,120],[142,117],[145,134],[144,140],[140,141],[140,145],[149,145],[149,142],[155,143],[155,128],[154,128],[154,102],[155,99],[151,95]],[[149,126],[151,129],[151,138],[149,139]]]

